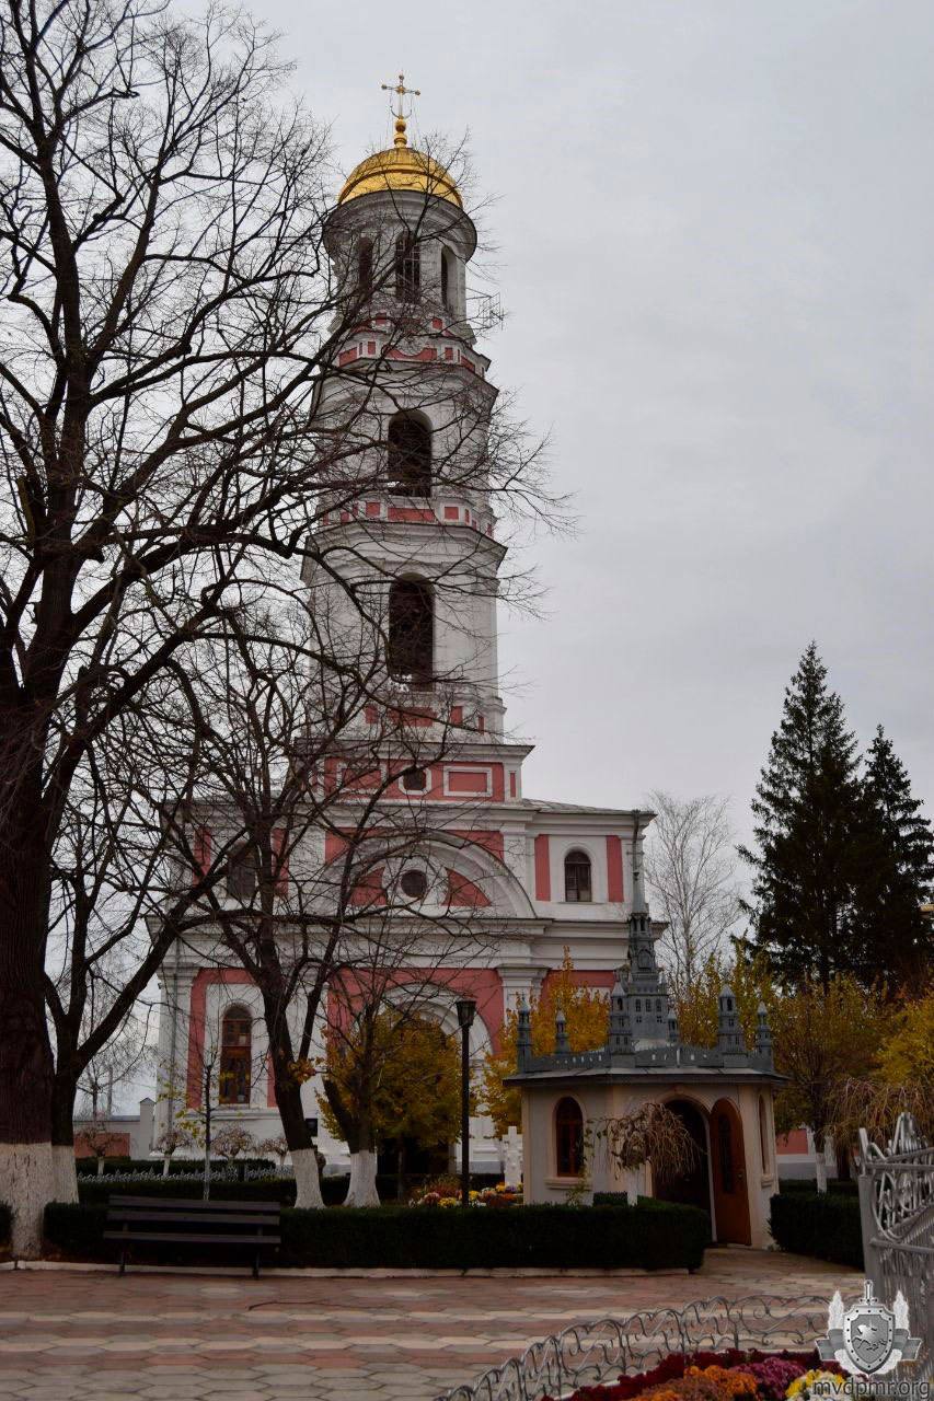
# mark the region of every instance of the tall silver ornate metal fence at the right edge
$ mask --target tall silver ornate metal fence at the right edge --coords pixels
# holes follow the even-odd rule
[[[906,1381],[934,1377],[934,1147],[900,1114],[885,1150],[860,1129],[860,1220],[867,1279],[886,1304],[902,1290],[923,1356]],[[902,1369],[899,1369],[902,1372]]]

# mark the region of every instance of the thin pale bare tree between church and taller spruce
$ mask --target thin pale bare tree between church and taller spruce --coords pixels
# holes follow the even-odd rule
[[[649,793],[656,817],[645,850],[652,909],[668,925],[661,961],[684,996],[711,955],[719,955],[739,918],[729,803],[711,794]]]

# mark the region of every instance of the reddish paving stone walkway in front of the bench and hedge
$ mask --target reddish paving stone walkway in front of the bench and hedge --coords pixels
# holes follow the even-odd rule
[[[829,1299],[858,1276],[707,1252],[696,1275],[311,1279],[0,1274],[6,1401],[431,1401],[568,1324],[714,1295]]]

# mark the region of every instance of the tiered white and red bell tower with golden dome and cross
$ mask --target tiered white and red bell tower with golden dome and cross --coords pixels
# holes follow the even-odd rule
[[[306,566],[306,581],[338,654],[376,656],[395,703],[488,747],[503,733],[506,551],[494,511],[496,389],[467,310],[477,231],[450,171],[408,144],[402,98],[414,90],[400,74],[391,91],[394,144],[351,172],[327,224],[345,329],[318,413],[342,450],[318,527],[328,565]]]

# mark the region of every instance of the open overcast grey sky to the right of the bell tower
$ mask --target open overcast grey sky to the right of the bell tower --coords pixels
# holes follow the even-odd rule
[[[931,0],[254,0],[349,170],[470,133],[495,384],[574,539],[503,618],[527,796],[749,799],[813,636],[934,801]]]

